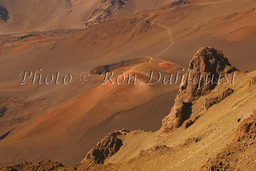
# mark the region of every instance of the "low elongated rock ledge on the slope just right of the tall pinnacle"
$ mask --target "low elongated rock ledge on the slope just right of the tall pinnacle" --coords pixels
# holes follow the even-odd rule
[[[220,93],[217,97],[207,99],[205,101],[205,105],[204,105],[205,110],[207,111],[212,105],[221,102],[222,100],[224,100],[226,97],[228,97],[233,92],[234,92],[234,90],[228,88],[224,92]]]

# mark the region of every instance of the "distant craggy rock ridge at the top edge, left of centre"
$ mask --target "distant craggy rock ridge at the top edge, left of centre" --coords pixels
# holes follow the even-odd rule
[[[129,0],[102,0],[98,8],[89,16],[84,27],[88,28],[114,17],[123,8],[122,6],[125,5],[125,1]]]

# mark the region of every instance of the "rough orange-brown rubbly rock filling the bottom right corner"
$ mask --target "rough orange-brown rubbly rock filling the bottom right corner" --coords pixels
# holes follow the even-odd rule
[[[233,140],[216,157],[209,159],[200,169],[205,171],[254,170],[256,111],[243,120]],[[252,159],[252,160],[250,160]]]

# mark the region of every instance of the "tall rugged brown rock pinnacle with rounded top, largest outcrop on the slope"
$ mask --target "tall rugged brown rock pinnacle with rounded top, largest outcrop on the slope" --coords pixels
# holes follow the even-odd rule
[[[231,66],[219,49],[199,49],[189,63],[188,71],[184,75],[186,81],[181,83],[170,114],[162,120],[158,137],[161,138],[165,133],[177,129],[190,117],[193,101],[209,94],[217,86],[219,75],[234,71],[237,69]]]

